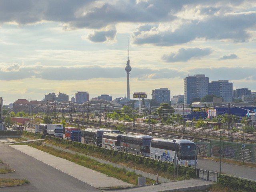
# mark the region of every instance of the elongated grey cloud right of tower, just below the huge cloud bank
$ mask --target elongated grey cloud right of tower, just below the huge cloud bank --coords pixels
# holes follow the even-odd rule
[[[180,62],[188,61],[191,58],[200,59],[203,56],[207,56],[212,53],[210,48],[181,48],[176,53],[171,53],[170,55],[163,55],[162,60],[166,62]]]

